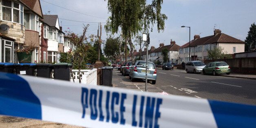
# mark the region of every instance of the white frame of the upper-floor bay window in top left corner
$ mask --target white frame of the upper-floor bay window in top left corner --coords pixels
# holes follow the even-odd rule
[[[11,0],[9,0],[9,1],[11,1]],[[18,3],[18,2],[15,2],[15,3]],[[20,9],[17,9],[17,8],[14,7],[14,1],[11,1],[11,7],[7,7],[7,6],[2,5],[2,0],[0,1],[0,4],[1,4],[1,20],[2,20],[2,21],[18,23],[18,24],[22,24],[22,25],[24,24],[24,5],[18,3]],[[3,20],[3,15],[2,15],[3,9],[2,9],[2,7],[11,8],[11,21]],[[21,10],[21,7],[22,7],[23,10]],[[13,21],[13,9],[19,10],[20,22],[14,22],[14,21]],[[22,16],[21,16],[21,13],[20,13],[20,12],[23,13]],[[23,18],[23,20],[22,20],[21,18]],[[22,20],[23,22],[21,22],[21,20]]]

